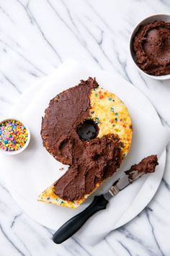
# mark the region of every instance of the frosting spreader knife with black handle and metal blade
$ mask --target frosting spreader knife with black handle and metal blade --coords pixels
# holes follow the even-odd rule
[[[125,189],[132,182],[135,182],[143,174],[143,172],[138,173],[138,171],[125,172],[120,179],[112,184],[112,187],[110,187],[106,194],[95,196],[94,200],[85,210],[64,223],[53,235],[53,242],[61,244],[73,236],[94,213],[107,207],[110,198],[117,195],[118,192]]]

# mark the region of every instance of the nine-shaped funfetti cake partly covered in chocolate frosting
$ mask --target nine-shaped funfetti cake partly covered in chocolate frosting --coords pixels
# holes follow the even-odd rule
[[[125,104],[91,77],[53,98],[42,119],[42,141],[69,168],[39,200],[76,208],[120,167],[132,128]]]

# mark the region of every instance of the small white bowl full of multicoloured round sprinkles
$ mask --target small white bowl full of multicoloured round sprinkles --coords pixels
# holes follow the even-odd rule
[[[30,142],[30,130],[18,119],[0,121],[0,152],[6,155],[21,153]]]

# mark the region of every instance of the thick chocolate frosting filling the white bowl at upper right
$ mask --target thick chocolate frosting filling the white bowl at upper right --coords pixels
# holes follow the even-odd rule
[[[170,22],[141,25],[133,38],[140,69],[148,74],[170,74]]]

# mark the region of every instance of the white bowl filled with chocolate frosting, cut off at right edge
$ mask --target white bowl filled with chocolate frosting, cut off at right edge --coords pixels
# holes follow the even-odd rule
[[[130,35],[135,67],[156,80],[170,79],[170,14],[146,17]]]

